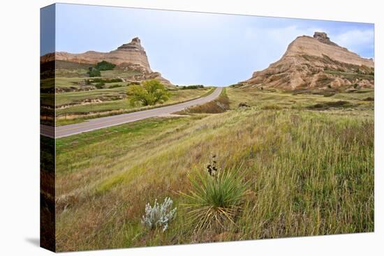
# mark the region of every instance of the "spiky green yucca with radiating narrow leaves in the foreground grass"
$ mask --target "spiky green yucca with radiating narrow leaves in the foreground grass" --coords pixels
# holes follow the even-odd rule
[[[192,188],[181,193],[185,199],[189,219],[196,223],[195,231],[201,229],[226,229],[226,224],[235,225],[235,217],[241,211],[246,194],[246,184],[238,169],[223,170],[216,176],[207,172],[189,176]]]

